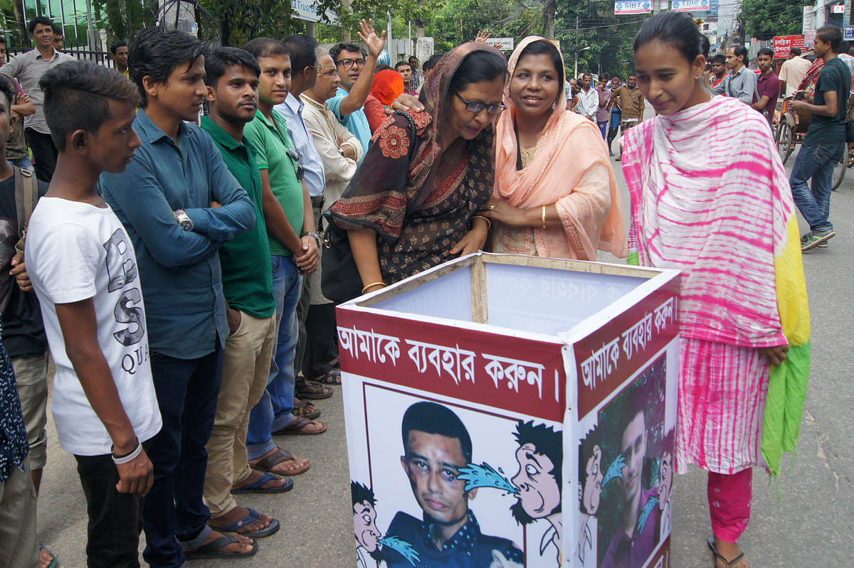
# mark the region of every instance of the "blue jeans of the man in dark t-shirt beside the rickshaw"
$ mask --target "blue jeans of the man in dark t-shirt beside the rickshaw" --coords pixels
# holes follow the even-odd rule
[[[818,146],[801,145],[795,157],[789,185],[795,205],[804,216],[810,229],[826,232],[834,229],[830,216],[830,192],[833,185],[834,166],[845,154],[845,141]],[[811,188],[806,181],[812,178]]]

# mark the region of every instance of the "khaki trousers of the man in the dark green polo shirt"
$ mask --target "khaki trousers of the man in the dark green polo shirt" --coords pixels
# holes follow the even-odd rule
[[[225,339],[222,383],[208,445],[205,504],[215,519],[237,507],[231,487],[252,473],[246,455],[249,412],[260,401],[270,376],[276,317],[240,312],[240,326]]]

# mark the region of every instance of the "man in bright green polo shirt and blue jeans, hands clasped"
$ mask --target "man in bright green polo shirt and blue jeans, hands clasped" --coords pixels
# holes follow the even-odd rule
[[[307,460],[291,455],[272,441],[272,434],[321,434],[326,425],[293,414],[296,304],[302,275],[319,263],[320,239],[314,232],[312,202],[302,183],[299,155],[288,134],[285,119],[273,110],[290,89],[290,58],[281,42],[255,38],[243,49],[260,67],[258,110],[246,125],[244,136],[255,148],[261,177],[262,202],[270,241],[273,294],[278,332],[270,377],[260,402],[252,409],[246,449],[249,464],[272,473],[305,472]]]

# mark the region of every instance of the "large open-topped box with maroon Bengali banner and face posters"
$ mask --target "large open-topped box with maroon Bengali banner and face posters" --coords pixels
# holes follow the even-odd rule
[[[356,566],[670,566],[678,293],[477,253],[338,306]]]

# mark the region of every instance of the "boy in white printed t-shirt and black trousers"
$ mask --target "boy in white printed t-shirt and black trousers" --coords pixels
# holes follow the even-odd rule
[[[88,565],[138,565],[142,498],[154,483],[143,444],[161,429],[131,239],[97,191],[140,145],[137,88],[72,61],[45,72],[44,111],[59,158],[32,213],[26,270],[56,362],[52,410],[86,496]]]

